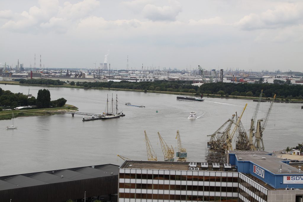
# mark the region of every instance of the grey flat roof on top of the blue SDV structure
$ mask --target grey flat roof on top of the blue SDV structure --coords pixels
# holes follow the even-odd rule
[[[282,162],[283,159],[271,155],[257,154],[253,156],[251,154],[236,154],[236,158],[238,161],[240,157],[242,158],[240,161],[251,161],[252,163],[258,165],[263,169],[270,171],[273,174],[277,174],[277,175],[289,174],[288,169],[291,170],[291,174],[303,174],[303,173],[298,173],[297,168]],[[265,157],[266,159],[263,160],[262,157]],[[281,173],[279,173],[280,165],[282,165]]]

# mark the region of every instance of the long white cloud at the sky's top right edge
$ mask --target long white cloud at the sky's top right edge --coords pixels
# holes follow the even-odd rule
[[[302,23],[302,4],[282,3],[274,10],[268,9],[261,14],[251,13],[235,23],[243,30],[273,29]]]

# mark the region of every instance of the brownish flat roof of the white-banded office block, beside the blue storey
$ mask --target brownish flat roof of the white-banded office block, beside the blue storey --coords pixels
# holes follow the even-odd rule
[[[119,168],[188,171],[189,163],[190,162],[126,160]],[[197,167],[201,169],[200,171],[236,171],[235,167],[233,167],[234,170],[224,170],[223,164],[220,164],[219,168],[213,168],[212,163],[208,163],[208,168],[201,168],[201,162],[197,162]]]

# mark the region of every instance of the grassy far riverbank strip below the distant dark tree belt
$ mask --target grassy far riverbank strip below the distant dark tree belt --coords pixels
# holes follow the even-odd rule
[[[54,88],[82,88],[82,89],[94,89],[94,90],[112,90],[112,91],[132,91],[132,92],[146,92],[146,93],[161,93],[161,94],[174,94],[174,95],[190,95],[190,96],[197,96],[196,93],[185,93],[185,92],[172,92],[172,91],[150,91],[150,90],[136,90],[136,89],[122,89],[122,88],[102,88],[102,87],[94,87],[94,88],[85,88],[83,86],[71,86],[69,84],[64,85],[40,85],[40,84],[20,84],[18,81],[0,81],[0,84],[5,85],[23,85],[23,86],[42,86],[42,87],[54,87]],[[225,99],[241,99],[241,100],[255,100],[258,97],[246,97],[246,96],[234,96],[229,95],[225,97],[225,95],[218,95],[218,94],[204,94],[204,97],[207,98],[225,98]],[[264,101],[266,98],[263,98]],[[277,99],[276,101],[283,101],[283,99]],[[291,101],[302,101],[302,100],[295,100],[292,99]],[[285,101],[283,101],[285,102]],[[292,103],[292,102],[285,102],[285,103]]]

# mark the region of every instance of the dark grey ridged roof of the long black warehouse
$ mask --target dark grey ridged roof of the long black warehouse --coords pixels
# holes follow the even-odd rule
[[[2,176],[0,177],[0,190],[117,175],[118,167],[119,166],[113,164],[105,164],[55,171]]]

